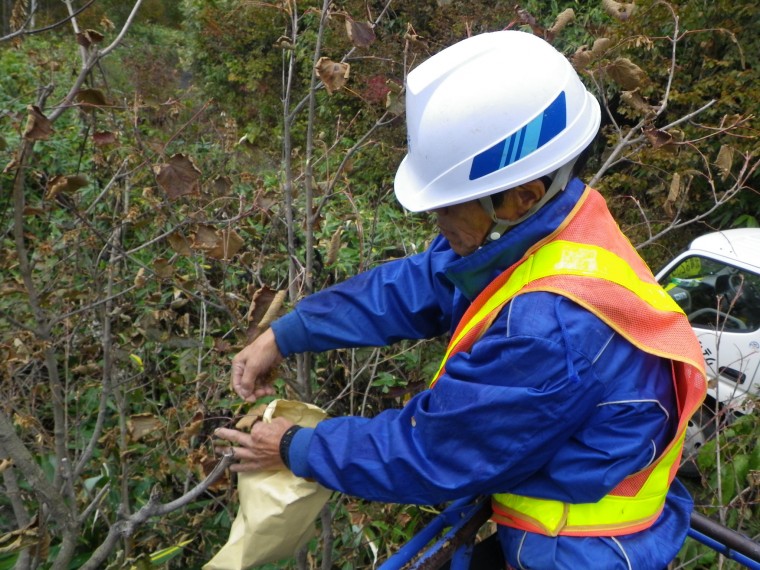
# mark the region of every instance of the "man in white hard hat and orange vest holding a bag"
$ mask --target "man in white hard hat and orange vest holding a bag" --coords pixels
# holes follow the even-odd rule
[[[567,60],[522,32],[413,70],[396,195],[441,235],[302,300],[235,357],[232,383],[255,401],[283,356],[448,332],[441,368],[371,419],[219,430],[235,469],[287,466],[386,502],[492,495],[516,568],[664,568],[689,527],[673,476],[701,353],[604,200],[571,179],[599,116]]]

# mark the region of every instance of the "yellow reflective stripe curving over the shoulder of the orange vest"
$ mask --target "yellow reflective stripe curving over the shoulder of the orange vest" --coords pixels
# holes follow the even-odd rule
[[[557,275],[604,279],[625,287],[655,309],[683,312],[662,287],[639,279],[631,266],[614,253],[588,244],[563,240],[549,242],[518,265],[504,286],[483,304],[469,322],[465,323],[459,335],[449,343],[434,380],[440,375],[454,347],[478,323],[499,309],[528,283]]]

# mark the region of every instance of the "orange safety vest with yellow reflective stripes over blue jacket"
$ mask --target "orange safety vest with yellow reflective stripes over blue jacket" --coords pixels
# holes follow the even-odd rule
[[[469,350],[510,299],[530,291],[567,297],[641,350],[669,359],[678,428],[653,463],[623,479],[596,503],[501,493],[492,499],[493,520],[547,536],[615,536],[650,527],[662,512],[678,470],[689,418],[705,396],[704,361],[683,311],[658,285],[595,190],[587,187],[562,224],[473,301],[430,387],[444,373],[448,359]]]

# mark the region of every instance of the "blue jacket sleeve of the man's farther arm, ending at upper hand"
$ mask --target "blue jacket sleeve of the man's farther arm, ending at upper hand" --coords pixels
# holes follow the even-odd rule
[[[438,237],[423,253],[391,261],[314,293],[272,324],[283,355],[385,346],[438,336],[451,322],[453,285],[444,277],[457,258]]]

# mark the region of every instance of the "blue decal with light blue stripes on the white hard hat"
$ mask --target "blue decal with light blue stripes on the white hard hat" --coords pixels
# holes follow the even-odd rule
[[[565,92],[562,91],[543,113],[519,131],[499,141],[472,159],[470,180],[476,180],[525,158],[541,148],[567,125]]]

